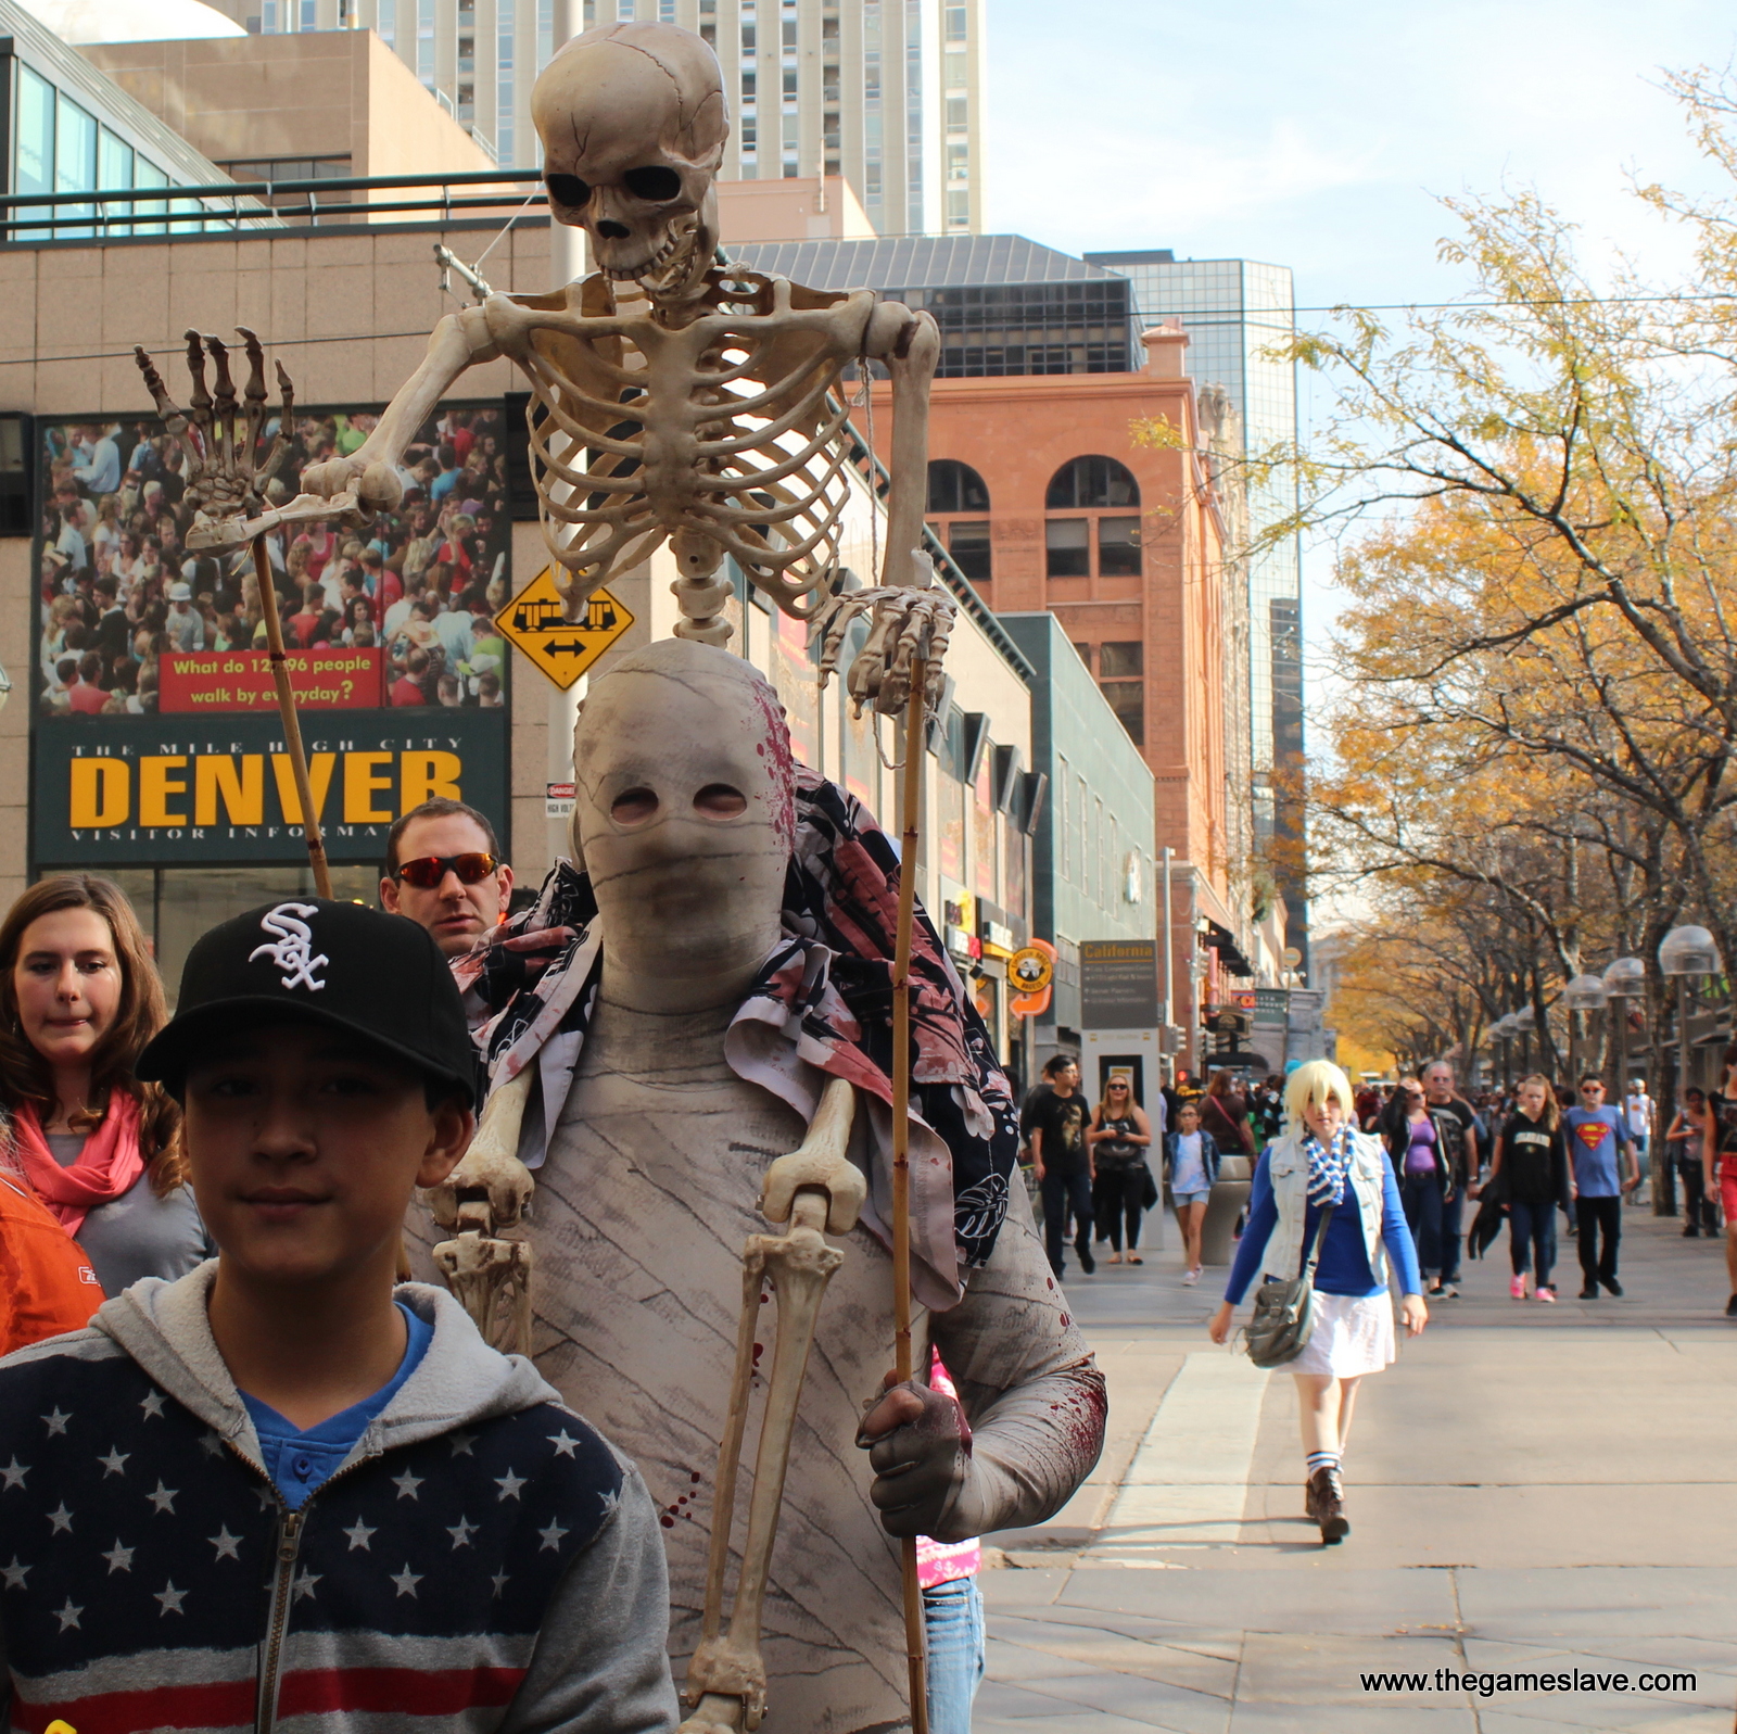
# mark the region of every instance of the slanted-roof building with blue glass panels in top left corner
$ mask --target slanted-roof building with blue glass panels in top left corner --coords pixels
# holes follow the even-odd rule
[[[210,186],[222,170],[69,49],[14,0],[0,0],[0,90],[7,101],[5,191],[96,193],[137,188],[118,233],[162,235],[172,186]],[[179,207],[175,207],[179,208]],[[78,240],[96,207],[63,205],[52,228],[14,240]],[[109,207],[113,212],[113,207]],[[26,212],[28,215],[28,212]],[[47,214],[43,214],[47,222]]]

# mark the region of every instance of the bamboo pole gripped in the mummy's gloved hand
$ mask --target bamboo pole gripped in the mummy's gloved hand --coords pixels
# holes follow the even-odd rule
[[[905,712],[905,801],[898,858],[898,930],[893,945],[893,1367],[912,1378],[910,1343],[910,931],[917,912],[917,832],[922,825],[922,725],[928,714],[928,667],[910,665]],[[929,1734],[929,1687],[922,1659],[922,1586],[917,1541],[900,1548],[905,1586],[905,1663],[910,1673],[912,1734]]]

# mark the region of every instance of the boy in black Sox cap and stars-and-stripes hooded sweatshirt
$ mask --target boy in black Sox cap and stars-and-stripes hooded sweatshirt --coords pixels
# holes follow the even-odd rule
[[[639,1473],[393,1286],[472,1051],[410,921],[306,898],[193,947],[137,1072],[219,1256],[0,1362],[0,1725],[674,1729]]]

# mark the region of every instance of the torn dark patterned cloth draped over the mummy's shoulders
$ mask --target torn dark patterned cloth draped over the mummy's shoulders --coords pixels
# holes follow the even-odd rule
[[[815,1072],[849,1079],[867,1098],[868,1206],[882,1242],[891,1220],[893,930],[898,857],[863,806],[804,766],[796,770],[796,839],[783,891],[783,936],[768,954],[724,1037],[731,1069],[813,1119]],[[559,862],[537,903],[453,961],[490,1088],[537,1065],[537,1168],[573,1079],[596,1006],[603,931],[591,881]],[[1018,1159],[1013,1091],[941,942],[917,905],[912,938],[910,1173],[914,1287],[950,1307],[964,1270],[987,1263],[1007,1213]],[[853,1157],[862,1135],[853,1140]]]

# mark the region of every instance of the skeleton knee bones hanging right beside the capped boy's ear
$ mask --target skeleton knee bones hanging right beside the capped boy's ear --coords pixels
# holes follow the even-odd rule
[[[429,1194],[434,1220],[453,1235],[434,1248],[434,1263],[485,1340],[521,1355],[532,1352],[532,1249],[509,1239],[537,1190],[518,1157],[519,1122],[533,1069],[488,1098],[483,1124],[464,1161]]]

